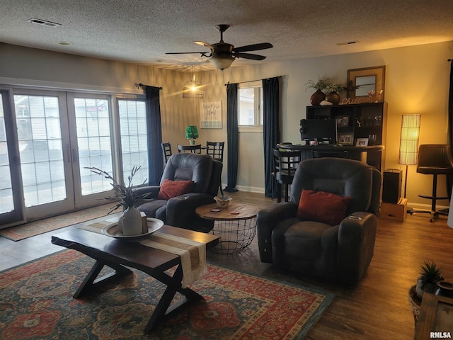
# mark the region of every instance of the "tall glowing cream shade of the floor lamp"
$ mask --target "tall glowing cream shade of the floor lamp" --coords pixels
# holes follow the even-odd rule
[[[403,118],[401,119],[399,164],[417,164],[421,117],[421,115],[403,115]]]

